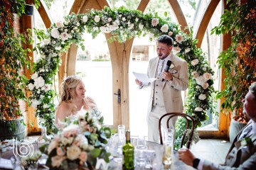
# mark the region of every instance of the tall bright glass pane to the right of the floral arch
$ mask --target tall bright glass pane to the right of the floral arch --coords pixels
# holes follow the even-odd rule
[[[218,26],[218,24],[220,23],[222,7],[222,3],[219,3],[217,8],[215,9],[212,18],[210,19],[210,23],[208,24],[208,28],[203,37],[203,42],[201,45],[203,52],[205,52],[206,57],[208,57],[210,67],[215,72],[213,76],[213,86],[214,89],[217,91],[219,90],[220,86],[220,70],[218,69],[218,64],[216,62],[218,55],[220,55],[221,52],[221,37],[220,35],[210,35],[210,30],[213,29],[215,26]],[[215,112],[219,111],[219,105],[217,101],[215,101],[214,104],[216,107]],[[213,130],[218,128],[218,116],[214,115],[213,113],[208,113],[208,116],[209,120],[206,121],[205,125],[202,125],[201,128],[198,128],[198,130]]]

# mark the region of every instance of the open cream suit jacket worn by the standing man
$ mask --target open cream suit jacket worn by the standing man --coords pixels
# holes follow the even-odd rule
[[[156,78],[156,69],[158,67],[159,57],[154,57],[149,61],[148,76],[149,78]],[[171,54],[171,64],[174,64],[174,68],[169,69],[176,70],[173,75],[171,84],[169,81],[164,81],[163,94],[164,94],[164,106],[166,112],[183,112],[183,103],[181,98],[181,91],[188,89],[188,63],[185,60]],[[155,82],[155,81],[154,81]],[[148,112],[151,111],[154,97],[154,82],[149,84],[151,86],[151,94],[149,99]]]

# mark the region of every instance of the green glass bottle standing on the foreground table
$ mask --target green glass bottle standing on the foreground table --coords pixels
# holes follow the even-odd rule
[[[124,155],[124,163],[123,163],[123,169],[134,169],[134,146],[132,146],[130,142],[130,132],[129,130],[125,133],[126,137],[126,143],[122,147],[122,152]]]

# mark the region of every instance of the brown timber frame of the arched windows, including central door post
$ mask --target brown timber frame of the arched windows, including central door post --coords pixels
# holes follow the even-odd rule
[[[138,10],[144,12],[146,6],[149,4],[150,0],[141,0],[138,6]],[[186,18],[181,11],[181,6],[179,6],[177,0],[166,0],[169,1],[171,9],[174,11],[174,14],[177,18],[178,23],[181,25],[181,29],[188,33],[188,29],[184,30],[187,25]],[[30,0],[27,1],[28,4],[32,4]],[[223,5],[226,4],[226,0],[223,0]],[[204,11],[203,17],[201,18],[198,28],[195,30],[196,39],[198,39],[198,47],[201,47],[203,41],[203,36],[210,22],[210,18],[215,11],[215,8],[220,3],[220,0],[211,0],[208,4],[208,7]],[[101,10],[104,6],[110,6],[107,3],[107,0],[75,0],[74,4],[70,10],[70,13],[87,13],[91,8]],[[226,6],[224,5],[224,8]],[[41,0],[41,6],[38,8],[38,13],[40,14],[43,23],[46,28],[49,28],[53,21],[50,18],[48,13],[48,8],[43,0]],[[21,18],[23,28],[32,28],[32,18]],[[26,30],[26,29],[23,29]],[[110,34],[105,34],[106,39],[110,38]],[[223,42],[225,40],[225,42]],[[223,35],[223,50],[227,49],[231,44],[230,35]],[[127,40],[124,43],[119,42],[107,42],[110,51],[110,57],[112,62],[112,91],[113,91],[113,122],[114,128],[117,128],[117,125],[124,124],[129,128],[129,57],[132,51],[133,39]],[[33,47],[31,47],[32,50]],[[58,79],[62,80],[64,77],[75,74],[75,62],[77,55],[78,47],[76,45],[71,45],[68,52],[64,52],[62,55],[62,64],[58,70]],[[30,54],[33,61],[33,54]],[[221,71],[223,73],[223,69]],[[30,77],[30,70],[26,70],[26,76]],[[221,88],[223,89],[223,79],[224,75],[221,78]],[[60,85],[61,81],[59,81]],[[122,97],[121,103],[117,102],[117,96],[114,93],[117,93],[120,89]],[[29,95],[29,94],[27,94]],[[221,101],[220,101],[221,102]],[[27,110],[27,121],[35,120],[33,128],[27,126],[28,134],[31,132],[38,132],[37,120],[34,116],[34,111],[32,108]],[[201,137],[227,137],[228,127],[230,125],[229,115],[225,113],[220,113],[219,115],[219,130],[215,131],[199,131]]]

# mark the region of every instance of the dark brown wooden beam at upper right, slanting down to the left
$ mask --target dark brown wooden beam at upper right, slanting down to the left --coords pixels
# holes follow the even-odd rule
[[[195,30],[196,39],[198,39],[197,46],[201,47],[203,42],[203,36],[206,33],[206,28],[210,22],[210,18],[213,16],[215,8],[218,6],[220,0],[211,0],[208,4],[206,10],[203,13],[203,18],[201,18],[200,25],[197,30]]]

